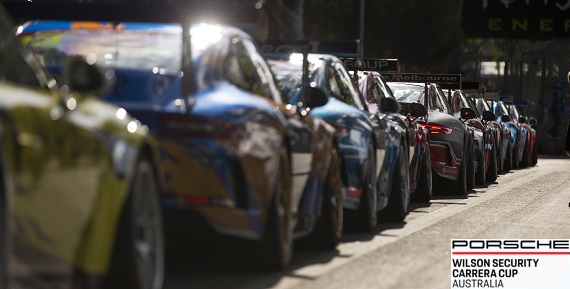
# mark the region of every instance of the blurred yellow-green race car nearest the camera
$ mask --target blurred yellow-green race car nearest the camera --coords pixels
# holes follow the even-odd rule
[[[0,6],[0,288],[161,288],[157,144],[71,58],[58,86]]]

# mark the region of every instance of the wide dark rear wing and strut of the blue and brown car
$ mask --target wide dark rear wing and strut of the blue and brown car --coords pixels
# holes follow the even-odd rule
[[[133,2],[38,3],[22,0],[4,0],[1,3],[17,23],[30,20],[179,23],[184,47],[190,47],[189,29],[192,23],[225,23],[243,27],[244,23],[258,23],[262,16],[260,5],[249,4],[137,2],[135,5]],[[182,72],[193,79],[192,56],[184,53],[185,50],[182,50]],[[183,99],[194,91],[193,81],[182,81]],[[184,103],[189,109],[189,104]]]

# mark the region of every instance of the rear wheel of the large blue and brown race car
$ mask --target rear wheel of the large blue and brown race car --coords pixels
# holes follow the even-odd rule
[[[279,173],[265,234],[262,240],[262,258],[270,268],[285,269],[293,256],[293,214],[291,208],[291,172],[287,151],[280,150]]]

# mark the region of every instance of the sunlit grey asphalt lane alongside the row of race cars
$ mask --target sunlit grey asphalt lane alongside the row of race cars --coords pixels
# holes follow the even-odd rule
[[[570,239],[570,159],[500,175],[467,195],[412,204],[403,223],[345,233],[335,252],[297,246],[289,270],[271,271],[240,240],[171,239],[165,289],[449,288],[450,240]]]

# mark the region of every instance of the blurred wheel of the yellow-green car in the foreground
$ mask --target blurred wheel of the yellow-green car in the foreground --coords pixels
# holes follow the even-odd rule
[[[156,174],[140,158],[125,202],[104,288],[159,289],[164,280],[164,231]]]

